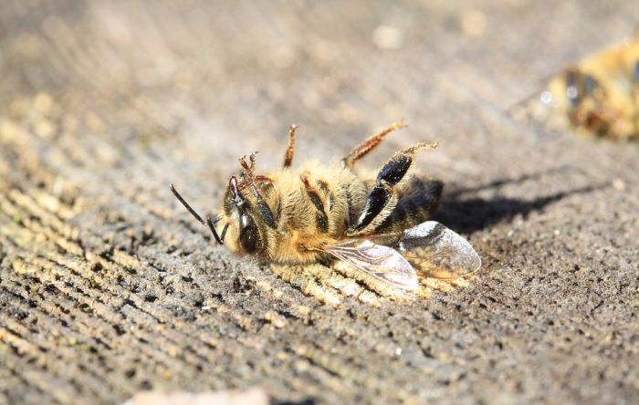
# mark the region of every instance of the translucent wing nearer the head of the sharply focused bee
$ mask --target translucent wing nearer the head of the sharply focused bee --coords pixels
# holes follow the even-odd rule
[[[413,266],[392,247],[373,244],[368,239],[352,239],[342,244],[328,244],[322,250],[343,262],[405,290],[417,288]]]

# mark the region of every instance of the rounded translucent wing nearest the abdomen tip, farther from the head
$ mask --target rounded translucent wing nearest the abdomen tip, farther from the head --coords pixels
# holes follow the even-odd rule
[[[481,259],[473,246],[435,221],[404,231],[397,250],[428,277],[456,278],[475,273],[481,267]]]

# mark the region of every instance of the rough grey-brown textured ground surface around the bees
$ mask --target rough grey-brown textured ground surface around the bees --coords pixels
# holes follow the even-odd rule
[[[510,112],[627,36],[633,2],[179,3],[0,8],[0,402],[639,401],[639,149]],[[297,161],[330,161],[401,118],[364,164],[439,141],[420,168],[484,259],[466,287],[324,305],[167,188],[215,210],[291,122]]]

